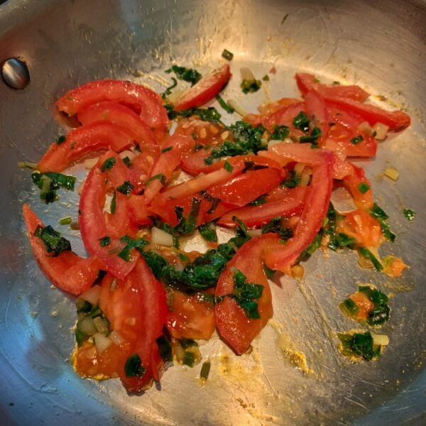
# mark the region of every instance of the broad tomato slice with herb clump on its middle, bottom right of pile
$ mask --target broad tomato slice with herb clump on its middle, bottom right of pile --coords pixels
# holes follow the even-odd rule
[[[268,246],[278,244],[278,240],[278,234],[264,234],[246,242],[228,263],[217,283],[216,296],[232,294],[234,273],[238,269],[246,275],[247,283],[263,285],[262,296],[256,300],[261,316],[258,320],[247,318],[244,310],[231,297],[225,297],[214,309],[219,333],[238,355],[249,349],[253,339],[273,315],[271,288],[263,271],[263,252]]]

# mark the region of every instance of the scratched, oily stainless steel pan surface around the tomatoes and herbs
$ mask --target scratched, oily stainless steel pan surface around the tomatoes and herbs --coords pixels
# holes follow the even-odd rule
[[[31,84],[13,91],[0,82],[0,423],[3,425],[389,425],[425,420],[426,4],[424,1],[21,1],[0,6],[0,62],[24,58]],[[281,24],[283,16],[288,18]],[[46,209],[18,160],[37,160],[63,129],[53,100],[95,78],[145,82],[163,90],[171,62],[207,70],[227,48],[235,53],[226,97],[249,111],[269,97],[297,94],[295,70],[323,80],[360,83],[385,107],[404,107],[413,125],[364,162],[376,199],[398,234],[382,253],[403,256],[403,278],[363,271],[353,253],[315,253],[306,278],[273,285],[275,316],[253,344],[234,356],[219,340],[201,347],[212,361],[206,386],[193,369],[174,366],[160,388],[130,396],[119,381],[82,380],[72,371],[75,323],[71,297],[50,288],[26,240],[21,204],[29,202],[53,226],[77,214],[77,195],[61,193]],[[239,68],[277,74],[244,97]],[[393,165],[398,182],[383,177]],[[76,170],[81,181],[84,171]],[[417,216],[408,224],[404,207]],[[65,213],[66,212],[66,213]],[[77,253],[76,231],[64,229]],[[391,344],[376,364],[350,364],[334,332],[354,324],[338,302],[373,283],[393,295]],[[278,283],[277,283],[278,284]],[[302,351],[308,373],[282,349]],[[287,352],[288,353],[288,352]]]

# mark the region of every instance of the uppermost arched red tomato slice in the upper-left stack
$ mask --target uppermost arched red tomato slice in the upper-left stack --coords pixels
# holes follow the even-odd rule
[[[137,104],[141,118],[153,129],[163,130],[168,124],[167,111],[160,95],[141,84],[120,80],[97,80],[70,90],[56,102],[60,111],[78,114],[98,102]]]

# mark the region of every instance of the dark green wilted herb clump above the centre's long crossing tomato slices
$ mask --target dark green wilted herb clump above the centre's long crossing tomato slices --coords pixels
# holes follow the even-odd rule
[[[246,121],[236,121],[229,129],[234,136],[234,142],[224,141],[219,148],[212,150],[211,155],[204,159],[204,163],[210,165],[216,158],[256,154],[267,148],[262,143],[263,133],[266,131],[262,125],[252,127]]]

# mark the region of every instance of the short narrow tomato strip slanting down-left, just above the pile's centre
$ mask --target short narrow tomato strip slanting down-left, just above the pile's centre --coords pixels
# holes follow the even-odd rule
[[[180,165],[182,158],[194,148],[195,141],[190,136],[173,135],[165,141],[164,146],[163,151],[167,150],[167,148],[171,149],[160,155],[160,158],[154,163],[148,178],[163,175],[166,180],[170,179],[175,168]],[[160,179],[154,179],[149,182],[144,194],[147,204],[160,192],[162,187],[163,184]]]

